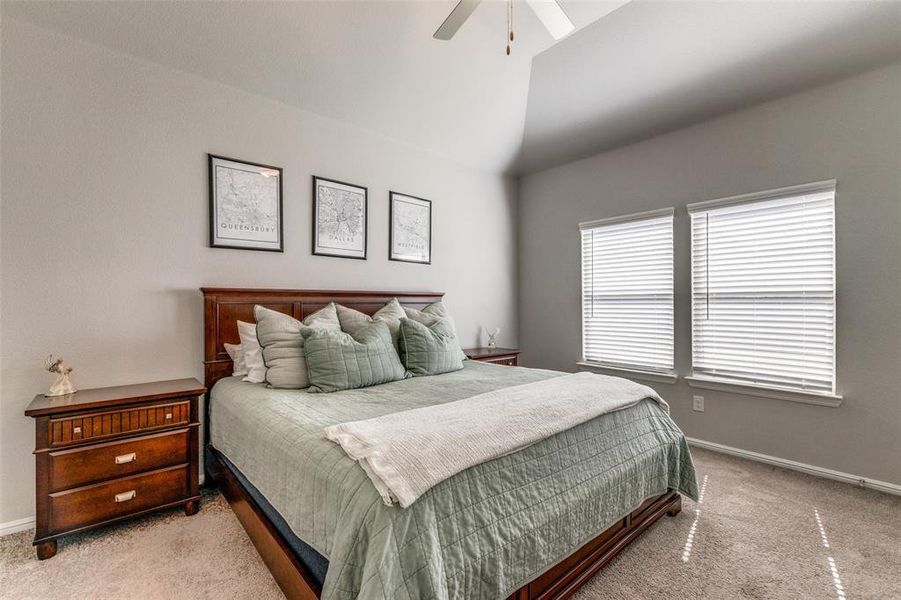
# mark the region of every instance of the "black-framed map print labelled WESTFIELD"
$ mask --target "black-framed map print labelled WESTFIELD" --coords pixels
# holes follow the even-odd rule
[[[389,193],[388,258],[432,264],[432,202]]]

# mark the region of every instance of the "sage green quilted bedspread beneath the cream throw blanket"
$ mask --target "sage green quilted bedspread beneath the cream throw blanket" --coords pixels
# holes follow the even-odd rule
[[[231,377],[213,445],[329,559],[322,598],[500,599],[667,489],[697,498],[685,438],[653,401],[467,469],[386,506],[323,429],[562,375],[466,361],[453,373],[333,394]]]

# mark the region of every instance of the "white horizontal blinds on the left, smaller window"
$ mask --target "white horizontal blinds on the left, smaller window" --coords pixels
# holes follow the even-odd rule
[[[673,371],[673,209],[579,225],[586,362]]]

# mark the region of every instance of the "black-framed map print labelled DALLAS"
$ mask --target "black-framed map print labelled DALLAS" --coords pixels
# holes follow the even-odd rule
[[[364,187],[313,176],[313,254],[366,260]]]

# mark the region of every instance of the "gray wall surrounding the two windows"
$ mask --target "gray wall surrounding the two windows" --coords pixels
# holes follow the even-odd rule
[[[574,370],[580,358],[577,223],[675,206],[676,367],[687,374],[685,204],[831,178],[841,407],[652,385],[689,436],[901,483],[901,65],[523,178],[523,363]]]

